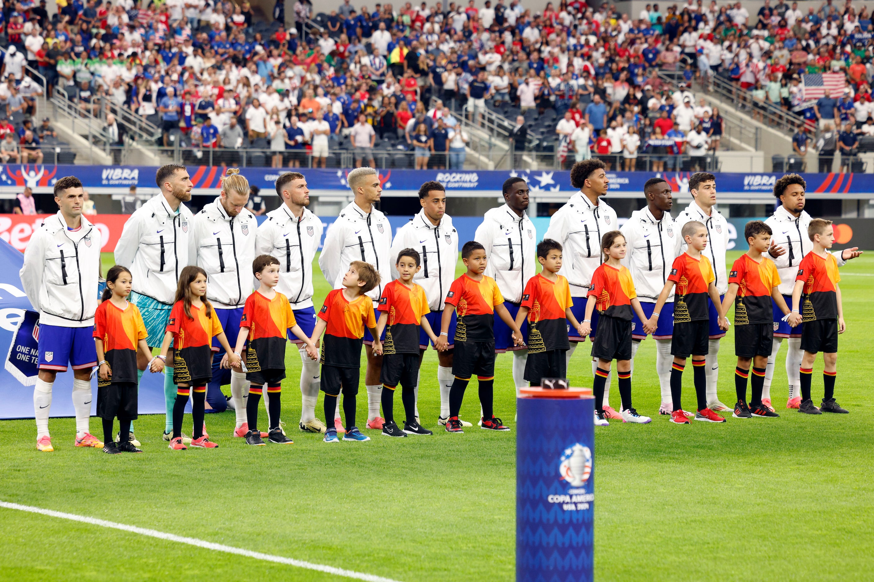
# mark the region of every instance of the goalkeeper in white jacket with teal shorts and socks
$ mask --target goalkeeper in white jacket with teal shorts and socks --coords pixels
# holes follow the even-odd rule
[[[130,215],[115,244],[115,264],[128,267],[134,278],[128,299],[140,309],[142,321],[149,331],[146,338],[149,348],[160,348],[163,342],[179,274],[189,265],[188,238],[193,218],[191,210],[182,204],[191,200],[193,187],[185,166],[176,163],[161,166],[155,174],[155,182],[161,193]],[[151,354],[137,353],[136,367],[140,372],[146,369],[151,357]],[[173,433],[176,391],[171,349],[164,364],[167,415],[163,440],[170,440]]]

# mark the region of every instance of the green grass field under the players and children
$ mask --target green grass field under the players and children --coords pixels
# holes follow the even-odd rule
[[[729,262],[737,256],[730,253]],[[596,431],[598,579],[874,578],[874,256],[853,260],[842,276],[847,332],[836,398],[849,415],[811,417],[783,408],[784,348],[772,390],[780,419],[677,426],[655,416],[650,425],[614,421]],[[328,287],[316,280],[322,301]],[[574,385],[591,385],[586,353],[573,357]],[[300,360],[293,355],[283,398],[292,446],[246,447],[231,438],[228,411],[207,415],[220,445],[214,450],[171,452],[161,440],[163,415],[152,415],[135,421],[143,454],[76,449],[73,419],[53,419],[55,452],[38,454],[33,421],[5,421],[0,500],[405,582],[513,579],[515,434],[468,429],[398,441],[365,431],[371,442],[329,447],[295,428]],[[495,409],[514,426],[510,358],[497,360]],[[733,402],[731,330],[719,359],[720,396]],[[422,424],[434,428],[435,366],[429,350],[420,413]],[[635,371],[635,405],[655,415],[651,340],[642,344]],[[822,398],[821,372],[818,361],[815,400]],[[618,402],[615,382],[614,393]],[[359,415],[366,411],[361,399]],[[402,417],[399,403],[396,409]],[[316,411],[321,417],[321,399]],[[468,390],[462,417],[477,414],[475,390]],[[187,432],[190,416],[185,423]],[[92,419],[92,432],[99,427]],[[11,509],[0,508],[0,530],[3,580],[339,579]]]

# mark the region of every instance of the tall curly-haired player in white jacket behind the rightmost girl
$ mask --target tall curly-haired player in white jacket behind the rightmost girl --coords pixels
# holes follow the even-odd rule
[[[610,183],[606,167],[596,159],[573,164],[571,185],[579,188],[579,192],[568,198],[565,205],[552,215],[544,235],[545,239],[557,240],[564,248],[558,274],[567,278],[573,298],[571,310],[579,322],[586,317],[586,294],[592,284],[592,274],[602,262],[601,237],[605,232],[619,228],[616,211],[600,199],[607,194]],[[597,310],[592,314],[591,324],[592,333],[589,337],[594,338],[598,330]],[[567,361],[570,364],[577,343],[585,342],[586,338],[580,337],[576,329],[568,329],[567,335],[571,341],[571,349],[567,350]],[[593,376],[597,368],[597,360],[593,360]],[[607,385],[604,387],[604,411],[607,418],[622,420],[621,414],[610,406],[610,379],[607,377]]]

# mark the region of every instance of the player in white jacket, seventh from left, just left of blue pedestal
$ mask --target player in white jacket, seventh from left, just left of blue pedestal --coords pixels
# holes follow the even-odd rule
[[[476,227],[474,239],[485,247],[489,259],[483,274],[495,280],[503,295],[503,306],[516,319],[522,292],[535,273],[538,233],[525,214],[531,192],[528,183],[523,178],[511,177],[503,183],[502,190],[506,204],[486,212],[482,225]],[[513,383],[518,396],[519,389],[528,386],[524,378],[528,348],[516,345],[513,330],[497,314],[494,329],[495,353],[513,352]],[[527,336],[527,329],[526,320],[521,329],[523,337]]]

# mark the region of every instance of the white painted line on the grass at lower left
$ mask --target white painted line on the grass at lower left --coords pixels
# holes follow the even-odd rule
[[[158,539],[163,539],[170,542],[195,545],[198,548],[205,548],[206,550],[224,551],[228,554],[237,554],[239,556],[246,556],[246,558],[254,558],[256,560],[264,560],[266,562],[276,562],[277,564],[293,565],[298,568],[315,570],[316,572],[325,572],[326,574],[334,574],[335,576],[343,576],[345,578],[366,580],[367,582],[398,582],[398,580],[383,578],[382,576],[374,576],[373,574],[364,574],[363,572],[355,572],[353,570],[343,570],[343,568],[335,568],[334,566],[329,565],[313,564],[312,562],[295,560],[294,558],[283,558],[282,556],[262,554],[260,551],[243,550],[242,548],[234,548],[230,545],[213,544],[212,542],[207,542],[205,540],[198,539],[197,537],[177,536],[175,534],[170,534],[163,531],[139,528],[135,525],[125,525],[124,523],[108,522],[104,519],[97,519],[96,517],[77,516],[73,513],[52,511],[52,509],[42,509],[38,507],[31,507],[30,505],[19,505],[18,503],[2,501],[0,501],[0,507],[6,509],[18,509],[19,511],[27,511],[30,513],[38,513],[44,516],[59,517],[60,519],[69,519],[73,522],[100,525],[101,527],[112,528],[114,530],[130,531],[132,533],[138,533],[142,536],[157,537]]]

